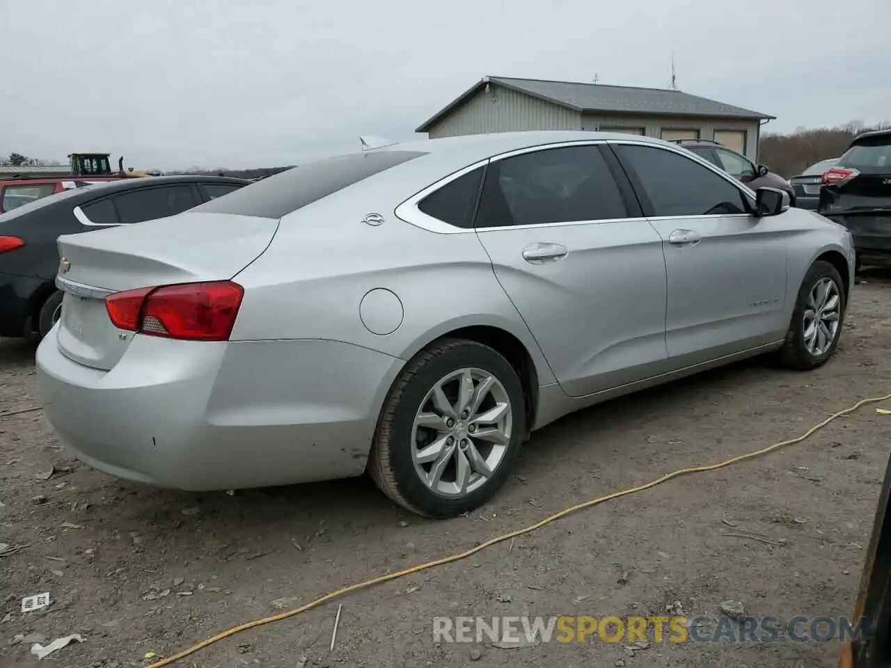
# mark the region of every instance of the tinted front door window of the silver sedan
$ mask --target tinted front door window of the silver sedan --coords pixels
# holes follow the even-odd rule
[[[720,216],[747,213],[739,188],[695,160],[650,146],[617,145],[617,154],[636,175],[650,216]]]

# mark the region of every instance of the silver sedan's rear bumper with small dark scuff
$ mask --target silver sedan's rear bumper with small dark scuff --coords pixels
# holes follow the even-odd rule
[[[135,336],[111,371],[37,348],[45,414],[78,459],[190,491],[360,475],[403,362],[322,340]]]

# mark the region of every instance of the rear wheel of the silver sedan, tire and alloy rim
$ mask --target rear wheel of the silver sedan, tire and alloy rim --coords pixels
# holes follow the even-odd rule
[[[456,517],[502,487],[526,434],[517,372],[489,346],[431,344],[405,365],[369,458],[380,490],[428,517]]]

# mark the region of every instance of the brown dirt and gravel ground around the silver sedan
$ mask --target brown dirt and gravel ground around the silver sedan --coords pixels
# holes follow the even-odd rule
[[[813,373],[762,362],[584,411],[535,435],[518,476],[470,517],[423,521],[364,480],[229,496],[121,484],[69,458],[40,411],[0,418],[0,665],[81,633],[60,666],[144,666],[236,623],[472,547],[579,501],[797,436],[891,392],[891,273],[856,288],[836,357]],[[34,344],[0,342],[0,413],[37,406]],[[832,666],[835,644],[589,640],[503,649],[434,644],[437,615],[849,615],[887,461],[869,406],[804,444],[585,510],[512,546],[246,631],[184,666]],[[53,473],[50,475],[53,466]],[[736,534],[736,535],[728,535]],[[740,535],[743,534],[743,535]],[[751,536],[755,536],[754,538]],[[49,591],[45,611],[23,596]],[[157,660],[157,658],[155,659]]]

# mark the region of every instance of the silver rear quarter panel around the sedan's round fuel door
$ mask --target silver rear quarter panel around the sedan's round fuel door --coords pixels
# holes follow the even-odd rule
[[[421,178],[414,191],[443,175]],[[394,209],[414,192],[399,181],[372,177],[282,217],[266,252],[234,278],[245,297],[233,340],[339,340],[407,360],[449,331],[488,325],[526,346],[541,385],[554,382],[477,235],[437,234],[397,218]],[[383,224],[363,222],[372,212]],[[376,293],[386,308],[362,306],[375,289],[398,303]],[[374,314],[395,330],[366,328],[363,316]]]

